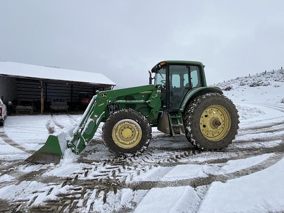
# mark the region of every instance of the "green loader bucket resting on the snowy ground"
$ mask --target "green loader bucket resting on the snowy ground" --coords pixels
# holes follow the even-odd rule
[[[62,151],[64,152],[64,150],[61,150],[58,137],[49,135],[45,144],[28,157],[26,161],[42,164],[58,164],[63,155]]]

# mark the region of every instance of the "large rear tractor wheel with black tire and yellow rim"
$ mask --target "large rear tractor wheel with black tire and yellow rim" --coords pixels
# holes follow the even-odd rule
[[[227,147],[235,139],[240,123],[236,106],[218,93],[195,98],[186,107],[183,120],[186,138],[203,150]]]

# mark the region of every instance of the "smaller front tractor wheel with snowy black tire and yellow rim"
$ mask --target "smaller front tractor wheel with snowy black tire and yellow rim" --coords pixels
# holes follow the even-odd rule
[[[106,147],[118,156],[133,156],[144,151],[151,140],[152,129],[141,112],[120,109],[107,118],[102,138]]]

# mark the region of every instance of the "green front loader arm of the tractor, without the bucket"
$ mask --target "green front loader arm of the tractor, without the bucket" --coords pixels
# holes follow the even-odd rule
[[[158,113],[161,107],[160,95],[157,94],[158,86],[146,85],[141,87],[133,87],[131,89],[109,90],[98,93],[94,96],[85,110],[79,125],[73,131],[73,139],[67,143],[67,146],[72,149],[75,154],[79,154],[86,145],[93,139],[97,129],[103,119],[109,115],[107,106],[109,104],[116,105],[133,105],[147,104],[151,107],[150,113],[146,116],[148,120],[157,120]],[[118,97],[142,93],[145,91],[151,92],[151,96],[147,100],[117,100]]]

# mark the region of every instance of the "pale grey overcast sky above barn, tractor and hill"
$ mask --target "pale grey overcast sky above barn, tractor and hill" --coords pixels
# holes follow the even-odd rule
[[[162,60],[209,84],[284,67],[283,0],[0,0],[0,60],[148,83]]]

